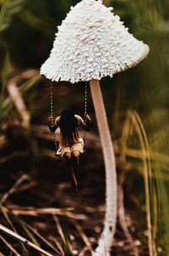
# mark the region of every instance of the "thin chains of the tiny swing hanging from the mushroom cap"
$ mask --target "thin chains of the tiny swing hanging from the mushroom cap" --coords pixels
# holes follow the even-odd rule
[[[84,111],[84,114],[87,114],[87,90],[88,90],[88,86],[87,86],[87,81],[85,82],[85,111]],[[51,105],[51,117],[52,119],[54,120],[54,116],[53,116],[53,84],[51,82],[51,93],[50,93],[50,105]],[[86,116],[85,116],[85,125],[86,125]],[[52,126],[54,126],[54,121],[52,121]],[[57,157],[57,149],[58,149],[58,146],[57,146],[57,137],[56,137],[56,134],[55,132],[53,133],[54,134],[54,147],[55,147],[55,156]],[[86,152],[86,149],[85,149],[85,141],[86,141],[86,131],[84,130],[84,135],[83,135],[83,140],[84,140],[84,153]]]

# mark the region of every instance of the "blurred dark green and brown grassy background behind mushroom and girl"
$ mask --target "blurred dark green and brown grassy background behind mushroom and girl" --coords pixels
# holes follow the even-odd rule
[[[0,220],[52,255],[90,255],[104,221],[105,177],[95,111],[71,192],[47,128],[50,81],[39,69],[75,0],[0,0]],[[169,255],[169,2],[105,0],[150,46],[136,67],[101,80],[118,178],[113,255]],[[54,84],[54,114],[83,116],[85,84]],[[95,186],[93,186],[95,184]],[[38,255],[0,233],[0,254]],[[18,254],[17,254],[18,253]]]

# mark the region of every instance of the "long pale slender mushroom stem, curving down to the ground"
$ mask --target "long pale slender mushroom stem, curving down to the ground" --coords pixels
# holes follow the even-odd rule
[[[101,145],[106,167],[106,216],[105,226],[99,245],[92,255],[108,256],[112,247],[112,239],[116,229],[117,219],[117,174],[112,137],[106,118],[106,110],[101,94],[100,82],[90,81],[90,90],[95,106],[96,120],[101,136]]]

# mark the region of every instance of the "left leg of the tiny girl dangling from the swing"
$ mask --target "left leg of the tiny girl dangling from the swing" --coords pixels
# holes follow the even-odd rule
[[[68,167],[68,171],[70,171],[70,174],[71,174],[72,189],[74,190],[74,192],[77,192],[78,191],[78,182],[74,175],[74,166],[71,161],[71,153],[69,153],[69,152],[64,153],[64,158],[65,158],[65,161],[66,161],[66,164]]]

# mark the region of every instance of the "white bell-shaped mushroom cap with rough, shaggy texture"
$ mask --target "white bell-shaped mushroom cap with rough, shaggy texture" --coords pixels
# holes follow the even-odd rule
[[[143,60],[149,47],[128,33],[119,16],[101,0],[82,0],[58,26],[41,75],[52,81],[101,80]]]

